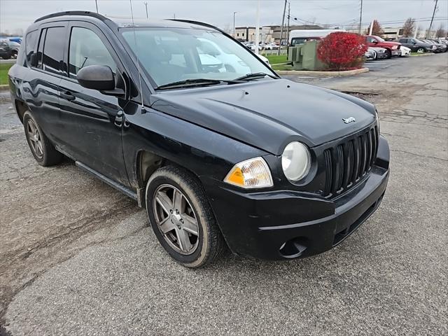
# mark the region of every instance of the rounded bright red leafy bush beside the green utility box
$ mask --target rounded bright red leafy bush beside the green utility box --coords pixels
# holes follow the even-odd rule
[[[319,43],[317,57],[330,70],[358,69],[363,65],[367,48],[365,37],[345,31],[335,31]]]

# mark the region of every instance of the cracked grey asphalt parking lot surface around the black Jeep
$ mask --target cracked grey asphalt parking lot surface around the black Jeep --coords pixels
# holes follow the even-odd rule
[[[38,166],[1,92],[0,324],[13,336],[447,335],[448,53],[375,66],[288,77],[377,104],[391,146],[379,210],[321,255],[228,254],[198,270],[169,258],[132,200],[69,160]]]

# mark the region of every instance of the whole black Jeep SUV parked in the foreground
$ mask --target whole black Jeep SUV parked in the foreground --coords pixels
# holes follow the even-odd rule
[[[374,106],[281,79],[215,27],[65,12],[23,44],[9,85],[38,164],[66,155],[137,200],[182,265],[226,245],[321,253],[381,202],[389,150]]]

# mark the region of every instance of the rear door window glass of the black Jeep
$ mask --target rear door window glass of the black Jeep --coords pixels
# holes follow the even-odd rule
[[[62,64],[64,62],[64,34],[64,27],[47,28],[42,55],[43,70],[57,74],[62,72]]]

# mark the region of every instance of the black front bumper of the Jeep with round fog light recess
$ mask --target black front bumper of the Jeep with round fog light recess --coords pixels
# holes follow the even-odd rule
[[[265,260],[300,258],[328,251],[349,237],[386,191],[389,151],[384,139],[381,144],[379,165],[335,200],[293,190],[244,193],[204,181],[230,250]]]

